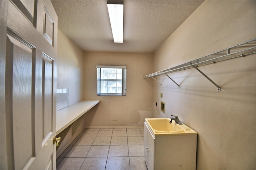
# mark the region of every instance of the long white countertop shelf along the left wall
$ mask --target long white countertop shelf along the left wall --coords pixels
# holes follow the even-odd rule
[[[100,100],[84,100],[57,111],[56,134],[62,132],[98,103]]]

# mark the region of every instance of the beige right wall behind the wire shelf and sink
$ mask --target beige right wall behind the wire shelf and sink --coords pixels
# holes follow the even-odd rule
[[[154,72],[256,38],[255,9],[256,1],[205,1],[154,53]],[[198,132],[198,170],[256,168],[255,57],[199,67],[220,92],[196,69],[169,74],[180,89],[156,77],[153,102],[164,101],[166,114],[154,106],[153,115],[178,115]]]

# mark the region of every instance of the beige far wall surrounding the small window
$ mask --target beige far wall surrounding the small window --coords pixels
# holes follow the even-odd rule
[[[126,65],[126,96],[97,96],[96,65]],[[150,53],[84,53],[84,99],[100,100],[85,118],[85,127],[143,126],[152,117],[152,81],[143,75],[152,72]]]

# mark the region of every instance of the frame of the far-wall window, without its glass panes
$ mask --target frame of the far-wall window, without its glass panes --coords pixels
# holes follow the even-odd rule
[[[96,65],[97,68],[97,96],[126,96],[126,69],[125,65]],[[101,79],[101,69],[122,69],[122,93],[101,93],[101,81],[118,81],[118,79]]]

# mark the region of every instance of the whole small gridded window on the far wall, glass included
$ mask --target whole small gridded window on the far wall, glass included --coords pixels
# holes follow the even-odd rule
[[[97,95],[126,96],[126,66],[97,65]]]

